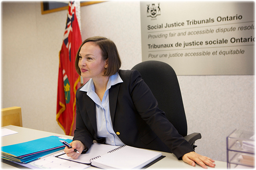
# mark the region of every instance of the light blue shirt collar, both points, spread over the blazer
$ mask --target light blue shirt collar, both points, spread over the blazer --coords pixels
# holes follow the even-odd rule
[[[110,89],[111,86],[114,86],[115,84],[124,82],[120,75],[118,74],[118,72],[114,75],[111,75],[108,79],[107,82],[107,89]],[[106,90],[107,90],[106,89]],[[86,92],[90,92],[91,90],[95,91],[94,89],[94,83],[93,83],[93,79],[90,79],[86,84],[84,84],[84,86],[82,86],[82,88],[80,89],[80,91],[86,91]]]

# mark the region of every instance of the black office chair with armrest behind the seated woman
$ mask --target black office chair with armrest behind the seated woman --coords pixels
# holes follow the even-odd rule
[[[140,72],[142,79],[156,97],[159,109],[165,112],[167,119],[195,150],[195,147],[197,147],[195,141],[201,139],[201,134],[192,133],[187,135],[186,115],[174,69],[161,61],[144,61],[135,65],[132,70]]]

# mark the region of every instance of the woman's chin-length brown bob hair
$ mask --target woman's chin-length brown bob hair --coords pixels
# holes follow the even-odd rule
[[[81,47],[86,42],[94,42],[95,45],[99,46],[101,49],[102,59],[104,61],[108,59],[107,68],[106,68],[106,71],[104,72],[104,76],[111,76],[116,74],[116,72],[119,71],[119,68],[121,67],[121,60],[120,60],[120,56],[118,54],[115,43],[105,37],[91,37],[84,40],[84,42],[82,42],[81,46],[77,51],[77,55],[75,56],[75,69],[77,70],[77,73],[79,75],[81,75],[81,70],[78,66],[79,53],[80,53]]]

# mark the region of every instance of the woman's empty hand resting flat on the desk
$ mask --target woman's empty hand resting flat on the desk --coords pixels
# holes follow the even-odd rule
[[[192,166],[195,166],[195,163],[197,163],[205,169],[207,169],[206,165],[212,168],[215,167],[213,159],[197,154],[196,152],[189,152],[187,154],[184,154],[182,156],[182,160]]]

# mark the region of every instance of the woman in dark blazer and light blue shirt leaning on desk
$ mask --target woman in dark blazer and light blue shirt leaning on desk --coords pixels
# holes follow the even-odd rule
[[[91,78],[76,93],[77,120],[72,158],[90,149],[93,140],[109,145],[172,152],[178,159],[203,168],[214,161],[195,153],[158,109],[158,103],[137,70],[119,70],[121,61],[114,42],[91,37],[80,46],[75,67],[84,78]],[[79,153],[73,152],[77,149]]]

